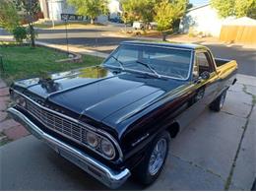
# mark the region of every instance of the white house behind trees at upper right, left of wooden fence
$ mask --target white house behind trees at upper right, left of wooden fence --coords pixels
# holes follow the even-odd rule
[[[223,23],[232,19],[232,17],[220,18],[217,10],[208,3],[189,9],[180,23],[179,31],[184,33],[193,31],[220,36]]]

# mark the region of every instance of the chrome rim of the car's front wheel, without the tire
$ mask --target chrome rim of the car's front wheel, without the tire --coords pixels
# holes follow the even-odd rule
[[[160,167],[165,159],[167,151],[167,142],[165,139],[161,138],[154,148],[150,163],[149,163],[149,172],[151,175],[155,175],[159,172]]]

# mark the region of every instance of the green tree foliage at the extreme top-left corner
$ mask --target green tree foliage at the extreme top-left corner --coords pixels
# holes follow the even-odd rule
[[[19,26],[20,17],[13,2],[1,0],[0,3],[0,26],[8,32]]]

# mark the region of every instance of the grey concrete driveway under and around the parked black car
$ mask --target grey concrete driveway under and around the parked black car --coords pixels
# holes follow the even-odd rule
[[[170,143],[159,179],[119,190],[250,190],[256,177],[256,78],[238,75],[224,109],[209,109]],[[0,190],[107,190],[32,136],[0,148]]]

